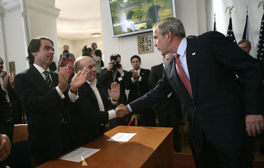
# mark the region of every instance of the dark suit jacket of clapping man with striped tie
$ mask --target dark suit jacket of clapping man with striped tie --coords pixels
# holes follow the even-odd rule
[[[55,87],[58,74],[50,73]],[[46,159],[59,156],[63,153],[60,113],[64,111],[67,117],[64,109],[67,98],[61,99],[55,88],[50,89],[33,65],[16,75],[14,85],[27,115],[29,156]]]

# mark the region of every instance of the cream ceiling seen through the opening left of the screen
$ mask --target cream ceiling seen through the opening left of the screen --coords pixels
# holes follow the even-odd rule
[[[101,33],[98,0],[55,0],[55,7],[60,9],[56,19],[58,38],[75,41]]]

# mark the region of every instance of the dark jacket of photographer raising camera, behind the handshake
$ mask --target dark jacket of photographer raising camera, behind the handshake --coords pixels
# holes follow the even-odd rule
[[[125,73],[124,77],[121,77],[120,73],[117,71],[115,80],[113,80],[113,72],[108,71],[107,68],[104,68],[101,70],[101,74],[98,77],[98,82],[101,85],[105,94],[108,94],[108,91],[107,91],[108,89],[111,90],[111,84],[113,82],[117,82],[118,84],[120,84],[120,98],[118,100],[118,103],[127,105],[128,101],[127,101],[127,95],[126,95],[125,89],[128,89],[128,86],[130,85],[131,80],[128,77],[128,72],[126,70],[124,70],[124,73]],[[119,81],[118,78],[121,80]]]

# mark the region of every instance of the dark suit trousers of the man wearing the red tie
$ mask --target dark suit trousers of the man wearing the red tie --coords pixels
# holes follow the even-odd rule
[[[203,132],[204,134],[204,132]],[[228,137],[227,137],[228,138]],[[204,134],[203,150],[197,153],[199,168],[249,168],[252,167],[251,144],[235,153],[218,152]]]

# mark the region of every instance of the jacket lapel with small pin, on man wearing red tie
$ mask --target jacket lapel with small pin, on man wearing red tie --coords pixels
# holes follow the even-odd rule
[[[192,86],[193,102],[195,104],[197,95],[198,78],[198,46],[196,39],[187,39],[186,59]]]

